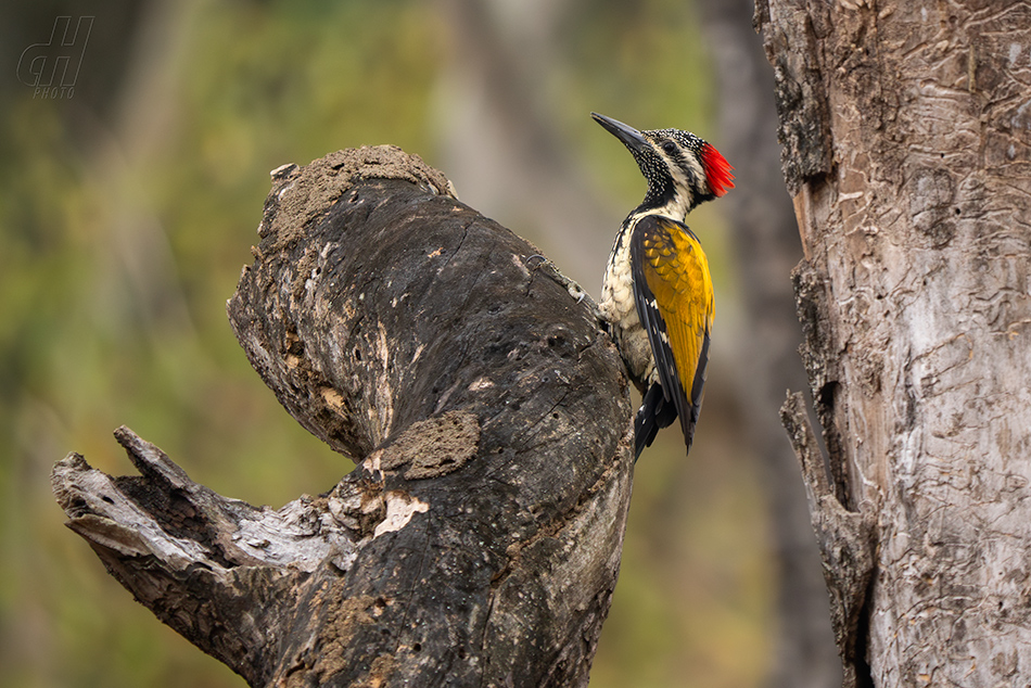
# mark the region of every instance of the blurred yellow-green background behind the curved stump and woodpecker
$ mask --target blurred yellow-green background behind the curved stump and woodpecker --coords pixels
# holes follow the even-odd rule
[[[94,20],[72,98],[41,98],[18,60],[62,15]],[[323,492],[352,469],[278,405],[225,316],[269,170],[397,144],[597,296],[644,182],[588,112],[718,145],[683,0],[8,2],[0,46],[4,688],[244,685],[106,575],[63,526],[49,475],[73,450],[131,472],[119,424],[256,505]],[[691,224],[713,264],[717,329],[731,332],[720,212]],[[671,430],[637,467],[593,687],[740,688],[769,672],[766,505],[720,349],[717,334],[690,460]]]

